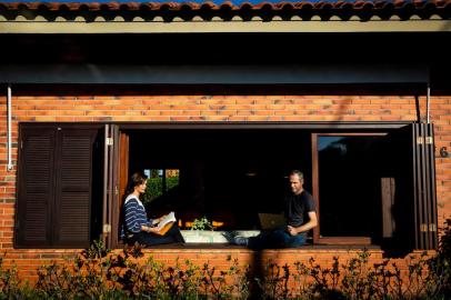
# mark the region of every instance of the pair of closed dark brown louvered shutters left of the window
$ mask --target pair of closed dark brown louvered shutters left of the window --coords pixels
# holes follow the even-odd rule
[[[21,126],[16,247],[89,246],[97,133],[87,126]]]

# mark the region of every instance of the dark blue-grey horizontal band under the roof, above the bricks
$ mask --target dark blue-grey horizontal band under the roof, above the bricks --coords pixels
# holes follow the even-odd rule
[[[104,84],[425,83],[427,66],[1,64],[0,82]]]

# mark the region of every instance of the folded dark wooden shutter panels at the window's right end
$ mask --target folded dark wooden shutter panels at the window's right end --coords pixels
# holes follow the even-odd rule
[[[433,127],[411,123],[391,134],[390,152],[395,179],[391,190],[394,203],[391,222],[384,222],[384,231],[393,230],[392,243],[409,249],[437,249],[437,196]],[[390,167],[389,167],[390,168]],[[388,201],[389,203],[390,201]],[[385,218],[387,219],[387,218]],[[388,230],[387,230],[388,229]]]

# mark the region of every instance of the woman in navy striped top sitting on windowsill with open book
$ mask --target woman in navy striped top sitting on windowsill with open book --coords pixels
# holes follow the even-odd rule
[[[160,236],[158,233],[158,224],[162,218],[147,218],[144,206],[140,197],[146,192],[147,176],[142,172],[136,172],[131,176],[123,203],[123,227],[122,238],[127,237],[127,242],[133,244],[136,242],[142,246],[154,246],[162,243],[184,242],[180,229],[177,223],[173,223],[169,231]]]

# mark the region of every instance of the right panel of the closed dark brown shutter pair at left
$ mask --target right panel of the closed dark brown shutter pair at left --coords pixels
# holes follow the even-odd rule
[[[90,242],[94,137],[96,131],[88,129],[59,131],[54,199],[56,246],[81,247]]]

